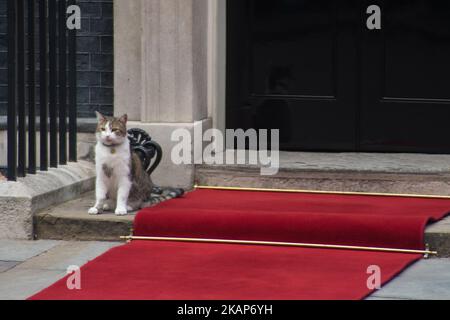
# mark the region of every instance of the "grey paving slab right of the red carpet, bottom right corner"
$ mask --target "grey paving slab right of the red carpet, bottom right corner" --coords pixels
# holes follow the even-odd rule
[[[371,298],[448,300],[450,259],[422,260],[406,269]]]

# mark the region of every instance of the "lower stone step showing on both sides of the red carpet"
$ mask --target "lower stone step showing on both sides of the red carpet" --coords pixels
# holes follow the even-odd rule
[[[135,213],[117,217],[112,213],[90,216],[94,194],[43,210],[34,217],[36,239],[67,241],[119,241],[131,234]],[[425,241],[439,257],[450,257],[450,217],[427,228]]]

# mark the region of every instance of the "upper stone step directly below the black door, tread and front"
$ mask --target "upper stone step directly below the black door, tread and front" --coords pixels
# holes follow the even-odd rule
[[[235,158],[247,163],[245,157]],[[259,165],[200,165],[195,179],[211,186],[450,195],[450,155],[280,152],[273,176],[261,175]]]

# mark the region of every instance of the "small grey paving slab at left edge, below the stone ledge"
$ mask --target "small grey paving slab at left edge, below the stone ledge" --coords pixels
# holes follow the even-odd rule
[[[57,241],[0,240],[1,261],[25,261],[58,245]]]

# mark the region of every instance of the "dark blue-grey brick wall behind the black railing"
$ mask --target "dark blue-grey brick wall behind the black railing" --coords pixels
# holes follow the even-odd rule
[[[0,0],[0,115],[6,114],[7,17]],[[81,30],[77,36],[78,115],[113,113],[113,0],[78,0]],[[38,92],[37,92],[38,94]]]

